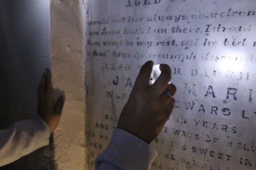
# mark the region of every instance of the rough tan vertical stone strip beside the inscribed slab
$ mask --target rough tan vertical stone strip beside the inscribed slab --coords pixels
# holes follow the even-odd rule
[[[58,169],[84,169],[85,67],[82,1],[51,1],[51,57],[55,88],[65,91],[66,103],[54,133]]]

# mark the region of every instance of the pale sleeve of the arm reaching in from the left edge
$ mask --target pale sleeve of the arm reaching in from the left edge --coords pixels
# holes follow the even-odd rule
[[[35,120],[15,122],[10,128],[0,130],[0,167],[48,145],[49,138],[49,126],[40,116]]]

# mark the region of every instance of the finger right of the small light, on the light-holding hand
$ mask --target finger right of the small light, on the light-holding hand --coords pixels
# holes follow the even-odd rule
[[[152,85],[152,88],[157,92],[157,95],[162,95],[163,91],[166,89],[167,84],[171,80],[171,68],[167,64],[161,64],[159,69],[161,74]]]

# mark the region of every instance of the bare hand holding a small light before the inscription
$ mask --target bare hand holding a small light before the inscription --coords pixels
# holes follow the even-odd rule
[[[130,97],[119,117],[117,128],[126,130],[150,143],[162,131],[174,107],[176,92],[171,80],[171,68],[161,64],[161,75],[154,84],[149,84],[153,61],[146,62],[134,83]],[[168,89],[172,96],[164,94]]]

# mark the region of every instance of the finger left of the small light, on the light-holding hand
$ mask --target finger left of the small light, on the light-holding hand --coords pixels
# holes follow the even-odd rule
[[[153,61],[147,61],[141,67],[140,73],[134,83],[134,87],[137,87],[139,89],[145,89],[146,87],[148,87],[153,65]]]

